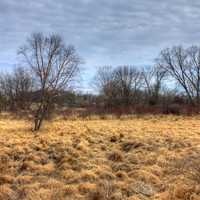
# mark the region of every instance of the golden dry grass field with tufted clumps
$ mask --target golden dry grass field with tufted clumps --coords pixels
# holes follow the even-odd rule
[[[0,200],[199,200],[200,116],[0,117]]]

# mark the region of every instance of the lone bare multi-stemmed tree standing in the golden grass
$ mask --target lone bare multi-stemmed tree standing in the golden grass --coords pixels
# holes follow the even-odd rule
[[[59,91],[69,87],[79,71],[80,58],[73,46],[65,46],[62,38],[52,34],[35,33],[19,49],[32,70],[40,92],[35,113],[34,130],[40,129],[54,98]]]

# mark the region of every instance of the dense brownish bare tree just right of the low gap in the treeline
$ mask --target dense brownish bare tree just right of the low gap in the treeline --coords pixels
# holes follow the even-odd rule
[[[141,72],[133,66],[100,67],[95,76],[96,85],[108,105],[130,105],[136,100],[142,86]]]

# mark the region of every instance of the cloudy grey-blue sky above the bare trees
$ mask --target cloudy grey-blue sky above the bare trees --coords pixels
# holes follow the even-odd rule
[[[0,71],[33,32],[58,33],[84,60],[80,90],[98,66],[152,65],[161,49],[199,45],[199,0],[0,0]]]

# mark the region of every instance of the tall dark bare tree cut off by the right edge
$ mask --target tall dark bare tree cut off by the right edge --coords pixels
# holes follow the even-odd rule
[[[199,47],[165,49],[160,54],[158,64],[179,83],[192,105],[200,105]]]

